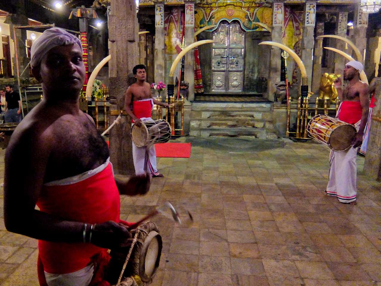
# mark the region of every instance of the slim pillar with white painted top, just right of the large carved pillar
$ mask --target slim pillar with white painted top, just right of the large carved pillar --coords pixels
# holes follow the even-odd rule
[[[154,82],[156,83],[165,81],[164,63],[164,5],[155,5]],[[165,98],[166,91],[162,94]]]

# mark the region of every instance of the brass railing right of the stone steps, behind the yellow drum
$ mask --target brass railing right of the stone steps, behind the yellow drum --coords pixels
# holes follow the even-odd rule
[[[311,119],[312,116],[310,116],[309,111],[315,111],[316,116],[319,111],[322,111],[325,115],[328,116],[328,112],[331,110],[335,110],[336,113],[339,108],[340,101],[337,98],[335,102],[335,108],[330,108],[329,101],[327,99],[324,100],[323,108],[319,107],[319,98],[316,98],[315,100],[315,107],[309,108],[309,100],[308,98],[298,98],[298,101],[291,101],[291,98],[288,99],[287,104],[287,123],[286,123],[286,136],[289,137],[290,134],[295,134],[296,138],[301,139],[308,139],[307,135],[307,124],[309,119]],[[297,104],[296,108],[291,108],[291,104]],[[291,119],[291,109],[295,110],[296,113],[296,132],[290,132],[290,119]],[[311,112],[312,113],[312,112]]]

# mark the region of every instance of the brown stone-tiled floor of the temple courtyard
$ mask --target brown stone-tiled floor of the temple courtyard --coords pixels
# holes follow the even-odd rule
[[[381,183],[363,174],[363,157],[349,206],[324,195],[322,145],[181,139],[192,142],[191,158],[159,158],[165,178],[144,197],[121,198],[129,221],[165,201],[194,217],[191,227],[152,219],[163,237],[152,285],[381,286]],[[1,180],[3,170],[1,159]],[[36,241],[7,232],[2,217],[0,285],[37,286]]]

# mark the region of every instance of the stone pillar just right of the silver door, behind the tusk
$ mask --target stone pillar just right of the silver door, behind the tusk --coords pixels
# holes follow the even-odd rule
[[[284,7],[283,3],[273,4],[272,13],[272,30],[271,30],[271,40],[273,42],[282,43],[282,27],[283,27],[283,17],[284,17]],[[282,50],[277,47],[271,46],[271,61],[269,68],[269,76],[267,80],[267,98],[270,100],[274,99],[274,93],[276,91],[275,83],[280,80],[280,54]]]

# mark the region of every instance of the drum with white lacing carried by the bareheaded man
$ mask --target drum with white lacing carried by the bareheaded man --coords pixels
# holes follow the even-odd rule
[[[138,147],[154,143],[165,143],[171,138],[171,125],[163,120],[143,122],[140,127],[133,125],[131,130],[132,141]]]

